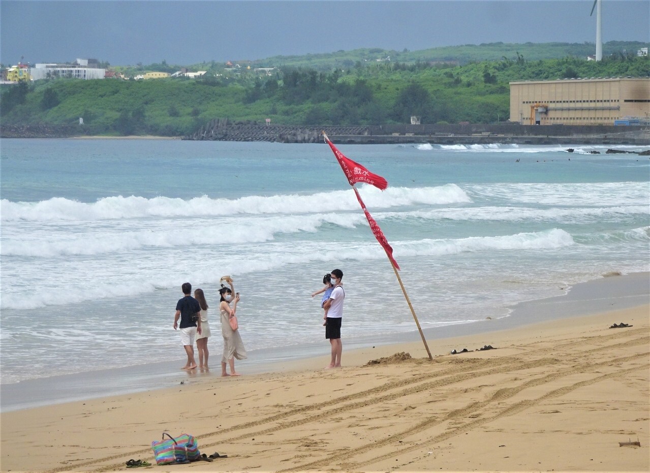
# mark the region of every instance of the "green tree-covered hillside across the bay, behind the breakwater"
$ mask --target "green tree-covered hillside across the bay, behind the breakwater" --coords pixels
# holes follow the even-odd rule
[[[626,48],[629,45],[625,43]],[[467,53],[482,46],[467,47]],[[527,45],[487,46],[491,55],[497,55],[515,46],[539,51],[535,47],[540,45],[528,49],[524,49]],[[456,47],[454,60],[463,48]],[[358,57],[358,51],[341,53],[338,58]],[[428,53],[400,54],[424,57]],[[418,115],[422,123],[493,123],[508,119],[510,81],[650,76],[648,57],[637,57],[636,49],[634,54],[619,51],[599,62],[573,56],[532,60],[518,49],[512,55],[463,65],[396,62],[391,57],[381,62],[357,60],[344,70],[319,70],[305,66],[304,60],[278,66],[271,75],[241,68],[231,74],[206,74],[203,79],[45,79],[5,86],[0,123],[75,125],[83,117],[86,134],[162,136],[190,134],[214,118],[260,122],[270,118],[286,125],[369,125],[406,123],[411,115]],[[223,72],[218,64],[210,66]]]

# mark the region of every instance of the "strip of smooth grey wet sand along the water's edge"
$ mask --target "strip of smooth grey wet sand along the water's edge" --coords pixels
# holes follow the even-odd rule
[[[556,297],[519,303],[513,307],[511,316],[499,320],[484,320],[473,324],[424,329],[430,352],[434,356],[445,353],[439,347],[439,340],[450,337],[476,335],[474,339],[476,343],[484,346],[491,344],[491,335],[489,334],[493,331],[643,305],[650,301],[650,274],[636,273],[602,277],[588,283],[578,284],[572,287],[568,294],[565,292],[566,288],[558,289],[558,293],[561,295]],[[383,338],[365,339],[346,339],[343,333],[344,351],[348,353],[351,350],[382,345],[395,345],[394,350],[401,351],[400,345],[408,342],[416,342],[416,346],[418,344],[423,346],[419,333],[415,331],[415,323],[413,323],[413,330],[410,333],[389,334]],[[317,340],[313,344],[296,345],[290,348],[249,350],[248,359],[237,362],[237,368],[248,375],[283,372],[310,366],[311,358],[317,358],[315,363],[325,365],[328,363],[328,355],[329,344],[323,339]],[[183,365],[184,361],[181,358],[166,359],[160,363],[3,384],[0,385],[1,411],[164,389],[179,385],[181,381],[194,382],[198,379],[209,380],[220,376],[218,365],[214,365],[213,368],[216,369],[210,371],[181,371],[178,368]],[[218,361],[218,357],[216,361]]]

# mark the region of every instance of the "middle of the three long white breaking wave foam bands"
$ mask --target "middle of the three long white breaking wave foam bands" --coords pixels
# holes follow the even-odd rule
[[[538,207],[450,207],[417,211],[373,212],[375,220],[404,223],[444,222],[453,220],[484,222],[564,222],[588,224],[604,220],[620,220],[623,216],[650,216],[647,205],[617,207],[538,208]],[[220,216],[195,218],[196,232],[179,232],[183,218],[154,219],[140,222],[128,220],[97,227],[70,222],[58,228],[44,227],[39,222],[25,222],[19,227],[5,228],[1,255],[6,257],[68,257],[104,255],[152,248],[186,248],[205,245],[252,244],[272,241],[280,234],[315,233],[323,225],[353,229],[367,225],[359,209],[353,212],[299,215]]]

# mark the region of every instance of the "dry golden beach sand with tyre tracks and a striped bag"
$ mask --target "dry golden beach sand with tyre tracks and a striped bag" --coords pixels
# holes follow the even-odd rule
[[[421,342],[344,348],[336,370],[320,369],[324,353],[287,372],[198,374],[171,389],[3,413],[0,467],[131,471],[127,460],[145,459],[153,467],[138,471],[647,472],[649,314],[643,305],[435,340],[433,361]],[[608,328],[615,322],[633,326]],[[497,350],[449,354],[486,343]],[[165,430],[228,457],[157,467],[150,445]]]

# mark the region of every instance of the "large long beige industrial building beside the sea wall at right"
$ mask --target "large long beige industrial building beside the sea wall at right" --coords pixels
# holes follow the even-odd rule
[[[510,121],[522,125],[614,125],[650,115],[650,78],[510,83]]]

